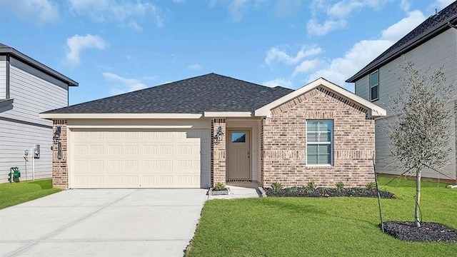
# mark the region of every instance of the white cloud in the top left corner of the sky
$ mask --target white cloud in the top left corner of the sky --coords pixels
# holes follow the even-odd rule
[[[59,19],[59,6],[49,0],[0,0],[2,9],[9,8],[25,20],[39,24],[52,23]]]

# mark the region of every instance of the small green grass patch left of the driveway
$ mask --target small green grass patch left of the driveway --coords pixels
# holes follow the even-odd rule
[[[61,191],[52,187],[51,179],[0,184],[0,209],[48,196]]]

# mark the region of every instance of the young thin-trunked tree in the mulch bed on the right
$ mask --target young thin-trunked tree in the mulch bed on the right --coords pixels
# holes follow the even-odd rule
[[[414,222],[421,226],[418,206],[421,201],[421,171],[440,169],[450,163],[450,121],[454,114],[453,85],[446,85],[443,68],[431,76],[406,61],[398,77],[402,87],[393,97],[391,109],[397,121],[391,124],[391,157],[406,170],[416,173]]]

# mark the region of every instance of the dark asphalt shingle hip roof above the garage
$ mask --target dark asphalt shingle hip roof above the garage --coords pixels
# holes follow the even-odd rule
[[[202,114],[253,111],[291,93],[219,74],[206,74],[44,114]]]

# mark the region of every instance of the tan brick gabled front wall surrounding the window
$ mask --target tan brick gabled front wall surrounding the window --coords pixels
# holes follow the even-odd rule
[[[367,110],[316,88],[271,110],[261,123],[261,183],[365,186],[374,180],[374,121]],[[306,120],[333,120],[333,166],[306,166]]]

